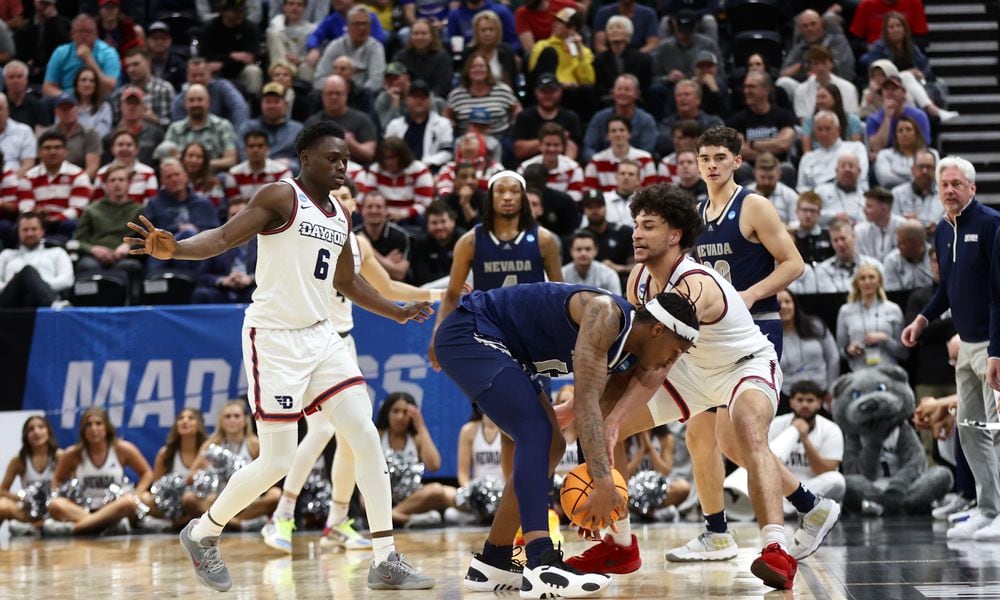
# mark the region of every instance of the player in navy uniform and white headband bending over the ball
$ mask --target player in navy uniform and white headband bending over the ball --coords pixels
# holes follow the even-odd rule
[[[604,290],[557,283],[461,298],[438,329],[438,359],[515,448],[513,474],[483,551],[472,559],[467,590],[520,589],[522,598],[584,598],[604,591],[608,576],[567,566],[549,537],[550,478],[565,442],[548,396],[532,377],[573,374],[573,413],[594,480],[581,507],[584,525],[611,526],[624,499],[611,478],[598,402],[609,373],[651,396],[697,337],[694,309],[678,294],[659,294],[638,309]],[[511,560],[519,521],[527,556],[523,569]]]

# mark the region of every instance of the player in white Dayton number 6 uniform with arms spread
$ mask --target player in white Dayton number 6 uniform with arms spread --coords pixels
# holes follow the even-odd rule
[[[298,420],[321,411],[354,450],[358,483],[367,501],[374,560],[372,589],[426,589],[434,580],[395,550],[389,473],[372,423],[372,406],[357,363],[333,328],[333,289],[399,323],[424,321],[428,303],[399,306],[354,272],[348,244],[350,215],[330,198],[344,184],[350,154],[340,126],[313,123],[295,140],[301,171],[261,188],[221,227],[177,241],[148,219],[128,226],[133,254],[161,260],[202,260],[259,235],[257,289],[247,307],[243,360],[257,420],[260,455],[229,480],[212,507],[181,532],[181,546],[198,579],[219,591],[232,578],[219,553],[225,524],[288,473],[298,446]]]

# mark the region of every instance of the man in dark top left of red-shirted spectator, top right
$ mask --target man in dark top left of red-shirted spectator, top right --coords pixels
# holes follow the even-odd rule
[[[781,63],[781,77],[775,82],[784,87],[789,96],[795,95],[797,83],[804,82],[809,77],[810,48],[822,46],[830,51],[833,58],[833,73],[847,81],[854,81],[854,52],[842,31],[828,30],[823,25],[819,13],[807,9],[795,17],[795,29],[798,35],[788,49],[784,62]],[[789,81],[790,80],[790,81]]]

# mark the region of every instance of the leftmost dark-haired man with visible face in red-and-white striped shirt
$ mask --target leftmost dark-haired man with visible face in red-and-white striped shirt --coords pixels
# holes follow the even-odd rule
[[[90,178],[66,161],[66,136],[49,130],[38,138],[41,164],[28,169],[18,182],[18,209],[37,212],[46,221],[75,221],[90,203]]]

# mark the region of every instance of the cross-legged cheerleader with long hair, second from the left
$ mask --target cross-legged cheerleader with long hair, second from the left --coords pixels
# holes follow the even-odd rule
[[[139,477],[135,490],[109,499],[112,486],[125,485],[125,468]],[[138,522],[137,497],[149,489],[153,470],[135,444],[119,439],[108,413],[93,406],[80,418],[79,441],[66,449],[56,463],[52,489],[71,479],[79,481],[86,506],[70,498],[58,497],[49,502],[50,519],[42,527],[45,535],[97,533],[108,529],[127,533],[127,523]]]

